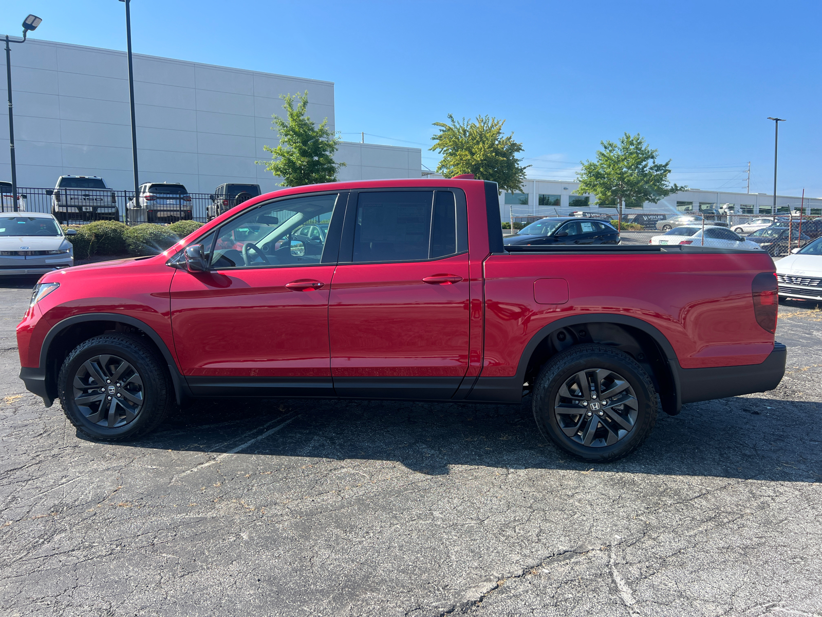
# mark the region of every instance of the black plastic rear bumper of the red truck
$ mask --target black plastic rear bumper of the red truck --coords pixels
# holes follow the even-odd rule
[[[774,350],[762,364],[680,369],[681,400],[683,403],[695,403],[773,390],[785,374],[786,358],[787,347],[774,343]]]

